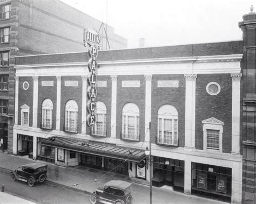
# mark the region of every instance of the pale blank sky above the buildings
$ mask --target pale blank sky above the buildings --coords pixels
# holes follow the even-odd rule
[[[240,40],[238,22],[256,0],[61,0],[114,27],[137,48]],[[98,28],[96,28],[98,29]]]

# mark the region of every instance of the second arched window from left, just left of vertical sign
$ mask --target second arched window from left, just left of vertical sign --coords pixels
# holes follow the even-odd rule
[[[78,132],[77,129],[78,106],[76,101],[69,100],[65,106],[65,131]]]

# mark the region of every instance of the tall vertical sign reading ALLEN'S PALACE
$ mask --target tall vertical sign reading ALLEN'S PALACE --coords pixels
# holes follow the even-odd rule
[[[97,62],[96,58],[98,55],[98,50],[100,46],[102,46],[102,35],[100,35],[94,29],[85,29],[84,30],[84,46],[86,47],[89,45],[88,54],[89,54],[89,61],[88,61],[88,69],[89,75],[87,76],[87,118],[86,123],[87,126],[92,127],[95,125],[96,122],[96,96],[97,96],[97,89],[96,89],[96,82],[97,82]]]

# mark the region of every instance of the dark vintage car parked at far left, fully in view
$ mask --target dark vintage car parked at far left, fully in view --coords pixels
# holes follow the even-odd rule
[[[47,178],[46,173],[47,165],[32,163],[19,166],[16,170],[12,170],[10,177],[12,181],[17,179],[28,182],[28,185],[32,187],[36,182],[44,182]]]

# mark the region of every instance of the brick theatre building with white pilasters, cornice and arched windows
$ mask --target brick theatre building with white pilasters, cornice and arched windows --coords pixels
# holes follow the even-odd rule
[[[93,129],[86,52],[17,57],[13,153],[239,203],[242,44],[100,51]]]

